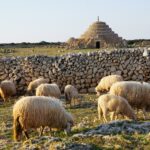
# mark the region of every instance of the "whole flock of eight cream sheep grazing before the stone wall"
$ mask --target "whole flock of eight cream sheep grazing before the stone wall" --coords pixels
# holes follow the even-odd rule
[[[150,108],[150,84],[136,81],[123,81],[120,75],[109,75],[102,78],[95,88],[98,98],[98,118],[107,122],[107,115],[111,112],[111,120],[122,115],[136,120],[133,108],[142,109],[144,117]],[[107,94],[104,94],[108,92]],[[70,133],[74,119],[60,101],[61,91],[57,84],[49,84],[44,78],[29,83],[28,95],[18,100],[13,107],[14,139],[20,140],[22,133],[28,139],[27,131],[31,128],[40,128],[42,135],[44,127],[64,130]],[[5,101],[16,94],[15,84],[5,80],[0,84],[0,96]],[[77,89],[66,85],[64,89],[66,104],[80,99]]]

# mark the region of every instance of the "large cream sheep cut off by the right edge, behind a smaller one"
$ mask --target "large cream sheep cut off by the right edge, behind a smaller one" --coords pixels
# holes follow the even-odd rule
[[[114,83],[110,94],[126,98],[132,107],[142,109],[146,119],[146,111],[150,109],[150,84],[136,81]]]

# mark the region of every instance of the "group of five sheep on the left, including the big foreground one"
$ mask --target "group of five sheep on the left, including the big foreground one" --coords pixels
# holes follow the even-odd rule
[[[49,84],[44,78],[36,79],[29,83],[27,87],[28,95],[18,100],[13,107],[13,129],[14,139],[20,140],[22,133],[28,139],[27,131],[31,128],[40,128],[42,135],[44,127],[50,129],[65,130],[68,134],[74,124],[74,119],[68,113],[63,103],[60,101],[61,91],[57,84]],[[2,81],[0,84],[0,96],[4,102],[10,96],[16,94],[15,84],[10,80]],[[67,85],[64,90],[66,103],[79,98],[77,89],[72,85]]]

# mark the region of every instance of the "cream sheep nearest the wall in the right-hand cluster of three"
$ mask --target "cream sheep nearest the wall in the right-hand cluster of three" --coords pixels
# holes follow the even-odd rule
[[[99,96],[101,92],[109,91],[112,84],[119,81],[123,81],[123,78],[120,75],[109,75],[103,77],[95,88],[97,95]]]

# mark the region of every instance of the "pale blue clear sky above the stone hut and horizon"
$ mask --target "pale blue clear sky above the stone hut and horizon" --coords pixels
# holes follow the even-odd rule
[[[0,43],[64,42],[97,16],[124,39],[150,39],[150,0],[0,0]]]

